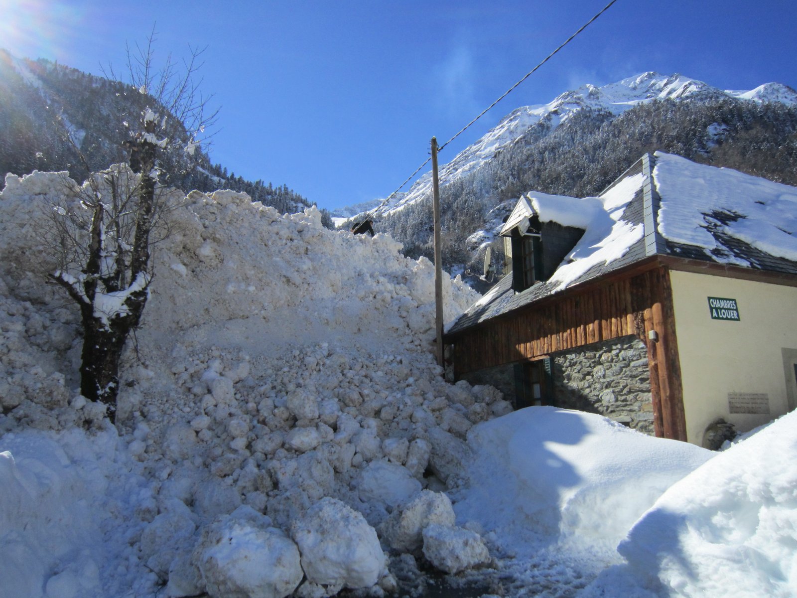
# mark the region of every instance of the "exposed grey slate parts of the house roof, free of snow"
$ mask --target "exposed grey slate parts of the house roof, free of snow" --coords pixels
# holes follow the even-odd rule
[[[658,211],[661,206],[659,197],[653,184],[654,165],[656,157],[645,155],[639,159],[632,167],[624,172],[601,194],[602,196],[611,191],[618,184],[630,179],[634,175],[642,173],[643,183],[634,192],[633,199],[626,205],[622,216],[618,222],[627,222],[630,225],[644,226],[642,239],[633,242],[621,257],[611,260],[611,262],[599,263],[587,271],[583,272],[574,280],[569,281],[566,287],[560,283],[551,281],[538,281],[528,289],[520,293],[512,290],[512,273],[508,273],[492,289],[472,305],[465,313],[459,317],[454,325],[446,332],[446,336],[452,336],[457,332],[462,332],[481,322],[492,319],[493,317],[512,312],[526,305],[531,305],[546,297],[551,297],[556,293],[561,293],[566,288],[583,284],[587,281],[595,281],[600,277],[630,266],[635,262],[640,262],[645,258],[654,255],[673,256],[677,258],[687,258],[703,262],[732,263],[736,266],[748,267],[751,269],[767,270],[777,273],[794,274],[797,276],[797,262],[786,258],[780,258],[760,250],[748,242],[735,238],[727,234],[724,225],[733,218],[738,218],[736,214],[727,213],[708,213],[695,214],[696,222],[701,223],[706,230],[717,240],[717,248],[713,253],[705,250],[701,246],[693,246],[685,243],[673,242],[664,238],[658,233]],[[797,192],[797,190],[795,190]],[[792,231],[797,232],[797,231]],[[791,234],[791,232],[789,233]],[[561,268],[565,264],[559,266]]]

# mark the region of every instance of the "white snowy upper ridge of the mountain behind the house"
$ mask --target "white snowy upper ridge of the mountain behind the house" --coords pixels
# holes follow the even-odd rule
[[[532,126],[547,121],[550,130],[585,108],[619,115],[638,104],[653,100],[720,100],[736,98],[757,102],[778,101],[797,105],[797,92],[787,85],[766,83],[750,91],[723,91],[680,74],[642,73],[622,81],[595,87],[583,85],[564,92],[548,104],[523,106],[510,112],[499,124],[462,150],[449,163],[440,168],[440,183],[445,186],[462,175],[477,171],[497,152],[508,147]],[[430,192],[431,174],[418,179],[406,194],[397,195],[379,211],[390,214],[417,202]]]

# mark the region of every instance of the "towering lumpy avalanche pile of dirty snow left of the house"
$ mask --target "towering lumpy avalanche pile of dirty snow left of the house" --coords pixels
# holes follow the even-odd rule
[[[319,533],[332,520],[308,513],[327,499],[361,519],[350,554],[375,563],[375,526],[430,483],[453,483],[446,466],[469,428],[507,409],[493,388],[443,380],[428,260],[387,236],[325,230],[315,208],[170,191],[117,435],[78,394],[79,314],[46,284],[47,231],[75,189],[36,172],[7,176],[0,193],[0,563],[22,594],[280,595],[296,568],[274,578],[245,563],[292,562],[292,523]],[[453,321],[477,294],[443,282]],[[305,540],[304,572],[338,566]],[[395,588],[383,561],[377,573],[341,566],[296,592]]]

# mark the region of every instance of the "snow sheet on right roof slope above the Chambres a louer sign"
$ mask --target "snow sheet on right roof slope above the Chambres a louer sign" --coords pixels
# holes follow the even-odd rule
[[[658,231],[665,238],[710,252],[720,246],[711,226],[764,253],[797,262],[795,187],[661,151],[655,155],[654,182],[662,198]]]

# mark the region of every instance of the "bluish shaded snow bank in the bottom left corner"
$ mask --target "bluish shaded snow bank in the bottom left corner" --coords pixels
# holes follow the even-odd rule
[[[116,431],[19,428],[0,438],[0,596],[146,596],[128,542],[157,514],[153,482]]]

